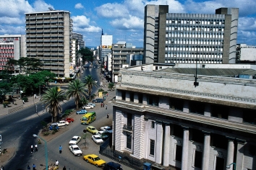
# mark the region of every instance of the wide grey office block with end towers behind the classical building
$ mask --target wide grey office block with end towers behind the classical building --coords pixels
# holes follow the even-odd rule
[[[168,13],[145,6],[144,63],[236,63],[239,9],[216,14]]]

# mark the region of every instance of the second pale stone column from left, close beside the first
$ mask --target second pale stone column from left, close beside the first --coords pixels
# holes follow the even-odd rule
[[[170,160],[170,124],[165,122],[164,144],[163,144],[163,166],[169,166]]]

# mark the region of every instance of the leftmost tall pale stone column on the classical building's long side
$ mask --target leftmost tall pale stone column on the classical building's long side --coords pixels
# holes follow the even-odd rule
[[[162,148],[163,148],[163,127],[162,121],[156,120],[156,146],[155,146],[155,163],[162,163]]]

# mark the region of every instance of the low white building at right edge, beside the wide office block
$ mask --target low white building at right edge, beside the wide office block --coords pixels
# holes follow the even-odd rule
[[[236,63],[256,63],[256,46],[236,45]]]

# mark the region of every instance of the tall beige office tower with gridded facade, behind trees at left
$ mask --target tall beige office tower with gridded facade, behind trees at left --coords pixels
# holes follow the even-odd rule
[[[25,13],[25,18],[27,57],[40,59],[43,70],[56,73],[58,77],[69,77],[72,55],[70,12],[32,12]]]

